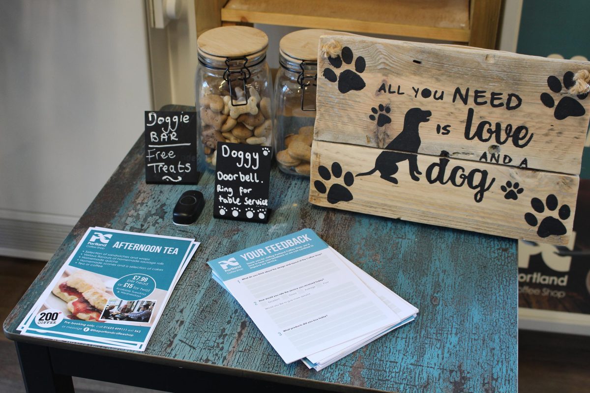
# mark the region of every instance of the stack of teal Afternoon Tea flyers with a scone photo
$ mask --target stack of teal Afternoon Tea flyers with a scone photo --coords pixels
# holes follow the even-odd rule
[[[145,351],[198,246],[195,239],[89,228],[18,329]]]

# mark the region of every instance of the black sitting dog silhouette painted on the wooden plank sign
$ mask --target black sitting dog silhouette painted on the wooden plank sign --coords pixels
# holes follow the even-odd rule
[[[429,121],[431,111],[424,111],[420,108],[411,108],[404,117],[404,129],[385,147],[386,150],[401,150],[411,153],[418,153],[420,147],[420,134],[418,127],[420,123]],[[381,179],[398,184],[398,179],[393,176],[399,170],[398,163],[408,160],[409,176],[414,181],[419,181],[418,174],[422,172],[418,169],[418,156],[416,154],[399,153],[398,151],[383,151],[375,160],[375,167],[365,173],[359,173],[356,176],[368,176],[376,171],[381,173]]]

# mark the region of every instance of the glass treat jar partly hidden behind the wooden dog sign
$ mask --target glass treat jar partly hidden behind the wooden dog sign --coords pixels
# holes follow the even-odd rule
[[[304,29],[285,35],[279,44],[281,67],[274,85],[274,151],[278,167],[309,176],[313,124],[316,120],[317,45],[330,30]]]

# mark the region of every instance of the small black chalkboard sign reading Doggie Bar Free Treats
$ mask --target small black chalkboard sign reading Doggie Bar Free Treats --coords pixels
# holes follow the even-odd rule
[[[197,184],[196,113],[145,113],[146,183]]]

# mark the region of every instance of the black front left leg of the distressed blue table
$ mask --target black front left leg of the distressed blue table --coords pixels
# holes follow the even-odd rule
[[[70,375],[55,374],[46,346],[16,342],[27,393],[74,393]]]

